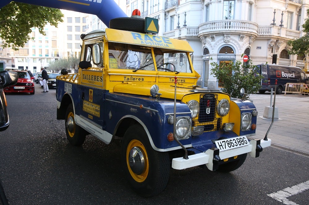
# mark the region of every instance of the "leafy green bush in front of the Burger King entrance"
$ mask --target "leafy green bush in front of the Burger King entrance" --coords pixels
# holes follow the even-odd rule
[[[211,73],[222,85],[222,92],[230,94],[233,98],[241,98],[240,89],[243,87],[248,94],[256,93],[260,88],[263,78],[259,74],[257,66],[253,65],[250,59],[248,62],[230,61],[218,65],[216,62],[210,63]]]

